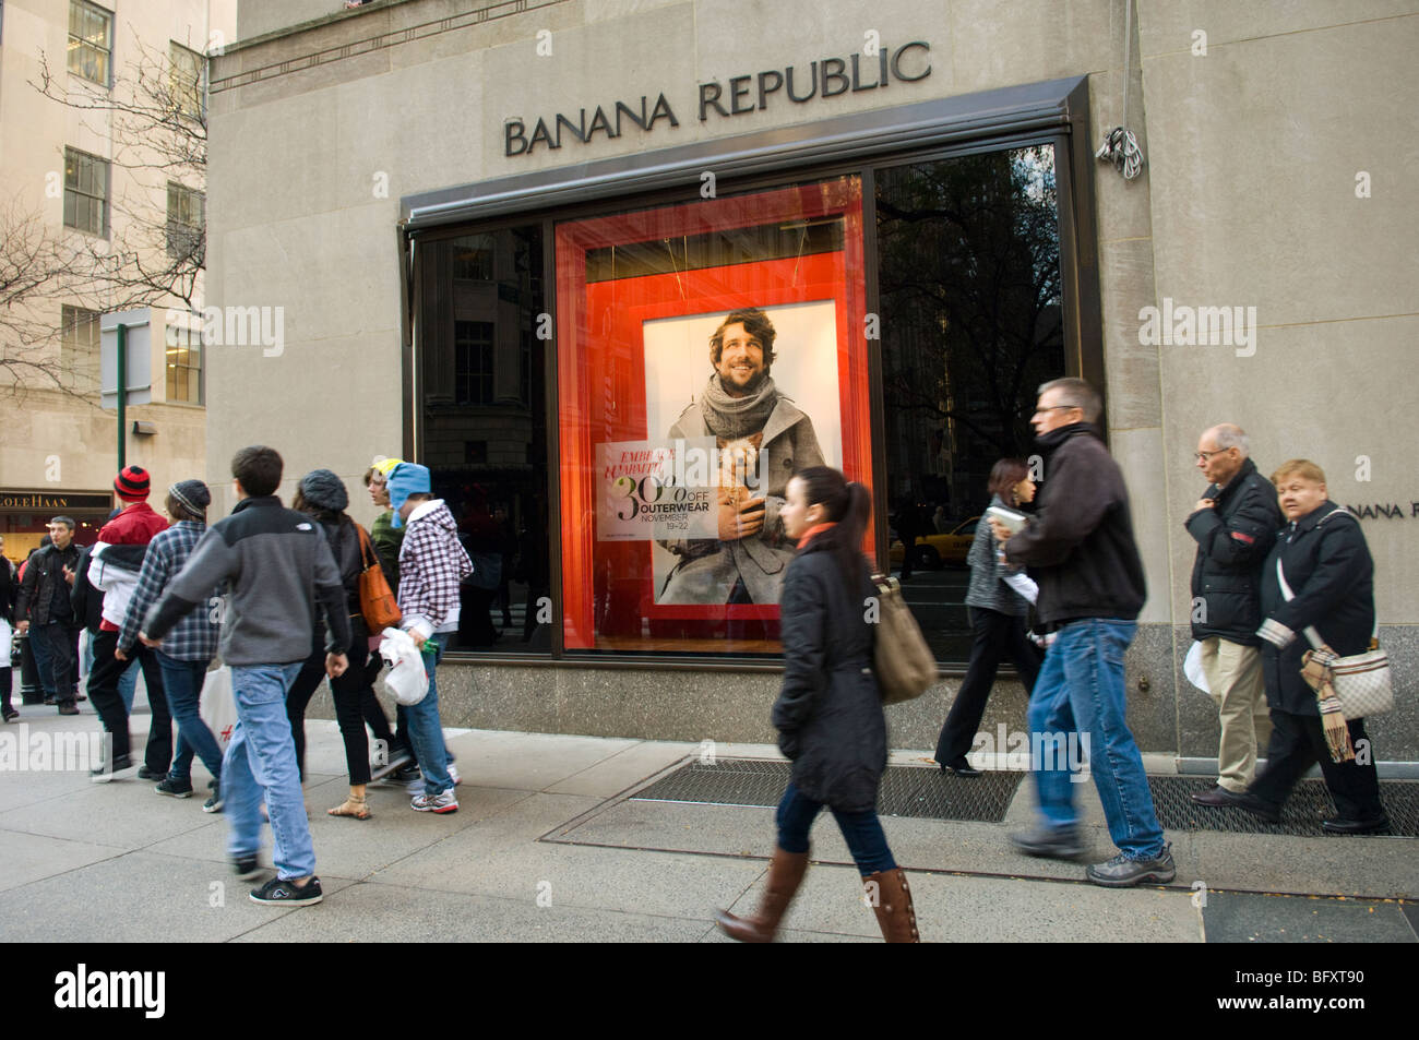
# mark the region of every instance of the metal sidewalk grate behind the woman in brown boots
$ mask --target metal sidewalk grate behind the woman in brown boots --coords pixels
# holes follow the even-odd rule
[[[877,796],[881,816],[1000,823],[1023,773],[988,772],[973,779],[938,769],[888,766]],[[789,763],[763,759],[690,762],[636,792],[640,802],[773,807],[789,782]]]

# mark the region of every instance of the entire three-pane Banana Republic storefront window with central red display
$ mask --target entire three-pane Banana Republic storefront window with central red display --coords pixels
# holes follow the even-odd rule
[[[1061,255],[1064,142],[529,194],[416,234],[413,444],[481,575],[451,648],[773,661],[779,507],[832,465],[873,489],[863,552],[964,663],[990,468],[1030,458],[1042,382],[1100,372],[1070,325],[1094,304]]]

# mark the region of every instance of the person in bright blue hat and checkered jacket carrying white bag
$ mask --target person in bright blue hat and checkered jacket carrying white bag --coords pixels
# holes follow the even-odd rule
[[[399,610],[403,627],[423,650],[429,694],[406,708],[414,758],[424,773],[424,792],[410,809],[455,813],[458,799],[448,775],[448,749],[438,718],[436,671],[444,633],[458,630],[458,585],[473,573],[473,562],[458,543],[458,528],[441,498],[431,495],[429,468],[400,463],[389,474],[389,504],[394,528],[404,528],[399,549]]]

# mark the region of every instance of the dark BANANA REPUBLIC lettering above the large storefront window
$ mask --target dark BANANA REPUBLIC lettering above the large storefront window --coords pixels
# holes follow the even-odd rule
[[[765,72],[714,79],[698,87],[700,122],[734,119],[749,112],[763,112],[773,106],[807,105],[815,98],[836,98],[840,94],[884,91],[897,82],[917,82],[931,75],[931,44],[912,40],[900,47],[868,40],[858,54],[846,58],[820,58],[806,65],[771,68]],[[563,145],[589,145],[602,133],[607,140],[619,138],[631,126],[654,131],[664,121],[680,126],[664,92],[651,101],[648,94],[640,101],[616,101],[596,108],[580,108],[576,115],[556,112],[538,116],[528,131],[524,119],[507,119],[502,125],[502,153],[505,156],[532,155],[538,148],[556,150]]]

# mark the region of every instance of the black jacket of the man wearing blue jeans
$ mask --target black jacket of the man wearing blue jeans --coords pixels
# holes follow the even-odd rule
[[[1040,624],[1135,620],[1148,587],[1118,463],[1090,423],[1050,430],[1039,444],[1050,453],[1040,515],[1005,543],[1005,558],[1029,566],[1040,586]]]

